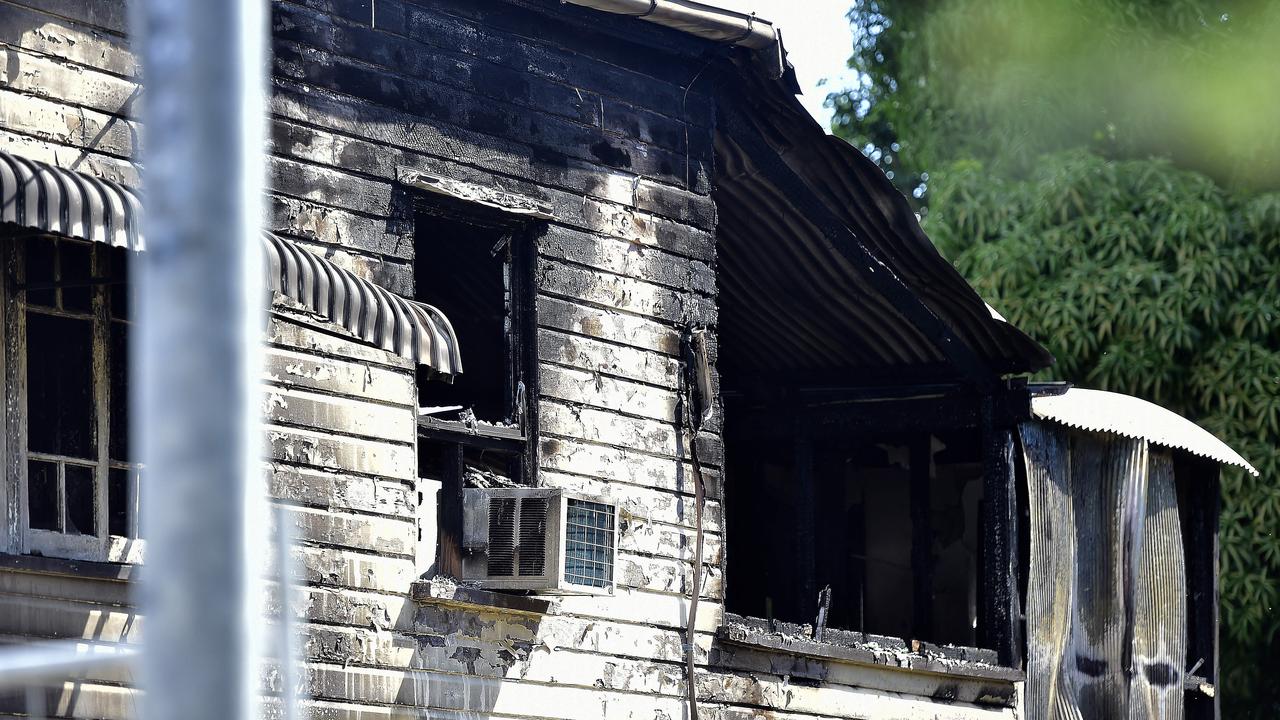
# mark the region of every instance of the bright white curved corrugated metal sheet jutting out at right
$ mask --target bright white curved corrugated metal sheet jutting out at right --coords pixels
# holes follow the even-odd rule
[[[1143,438],[1258,474],[1253,465],[1204,428],[1139,397],[1070,388],[1061,395],[1033,397],[1032,414],[1071,428]]]

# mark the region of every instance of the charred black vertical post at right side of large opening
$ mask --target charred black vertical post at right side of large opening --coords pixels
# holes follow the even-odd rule
[[[992,402],[982,405],[982,568],[983,598],[978,642],[992,648],[1010,667],[1023,664],[1021,600],[1018,568],[1018,474],[1014,429],[992,418]]]

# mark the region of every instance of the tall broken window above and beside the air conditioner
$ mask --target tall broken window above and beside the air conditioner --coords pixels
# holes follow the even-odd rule
[[[439,492],[443,574],[461,571],[462,489],[532,484],[532,252],[529,228],[509,218],[452,206],[417,211],[417,300],[453,323],[463,369],[452,382],[420,369],[417,383],[419,477],[422,501]]]

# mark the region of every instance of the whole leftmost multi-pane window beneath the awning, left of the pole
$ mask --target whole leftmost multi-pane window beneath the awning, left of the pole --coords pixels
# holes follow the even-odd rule
[[[137,561],[140,468],[128,438],[129,284],[123,249],[5,238],[10,447],[26,552]]]

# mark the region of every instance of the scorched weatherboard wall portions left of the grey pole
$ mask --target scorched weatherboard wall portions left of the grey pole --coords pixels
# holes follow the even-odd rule
[[[0,150],[137,187],[141,90],[125,29],[120,0],[0,3]],[[145,620],[133,577],[128,566],[0,556],[0,643],[78,639],[84,652],[137,643]],[[50,716],[132,716],[131,676],[104,669],[51,683],[45,707]],[[0,715],[26,715],[27,701],[8,689]]]

